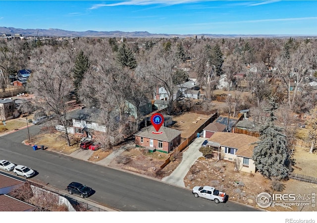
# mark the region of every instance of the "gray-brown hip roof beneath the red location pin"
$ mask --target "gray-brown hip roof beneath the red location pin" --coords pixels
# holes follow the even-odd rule
[[[135,133],[135,136],[141,136],[149,139],[156,139],[160,141],[170,142],[180,135],[181,131],[168,127],[160,127],[159,132],[162,134],[154,134],[152,132],[157,132],[153,125],[150,125],[141,131]]]

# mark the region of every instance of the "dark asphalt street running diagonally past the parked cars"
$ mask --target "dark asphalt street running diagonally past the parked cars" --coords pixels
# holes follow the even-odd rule
[[[30,126],[29,130],[31,135],[35,135],[39,126]],[[152,178],[47,150],[34,151],[21,143],[27,137],[27,128],[0,137],[0,159],[31,167],[37,174],[30,180],[56,189],[64,190],[71,181],[86,184],[95,190],[86,199],[108,207],[121,211],[256,211],[230,201],[215,204],[195,198],[188,189]]]

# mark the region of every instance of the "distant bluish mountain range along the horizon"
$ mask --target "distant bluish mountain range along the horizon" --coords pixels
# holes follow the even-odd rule
[[[21,36],[41,36],[41,37],[125,37],[125,38],[171,38],[171,37],[194,37],[198,39],[205,38],[237,38],[237,37],[263,37],[263,38],[283,38],[283,37],[294,37],[294,35],[219,35],[219,34],[152,34],[146,31],[143,32],[122,32],[122,31],[93,31],[88,30],[85,32],[67,31],[62,29],[19,29],[13,27],[0,27],[0,34],[20,34]],[[296,35],[297,37],[312,37],[305,35]]]

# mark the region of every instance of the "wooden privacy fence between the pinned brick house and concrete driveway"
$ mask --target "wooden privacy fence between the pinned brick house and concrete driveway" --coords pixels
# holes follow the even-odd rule
[[[185,139],[181,144],[179,144],[168,156],[168,158],[165,160],[164,164],[160,166],[160,168],[164,168],[167,164],[170,162],[170,157],[173,156],[175,152],[182,152],[196,137],[197,133],[200,133],[203,131],[203,129],[209,125],[216,117],[218,116],[218,113],[215,112],[209,119],[207,119],[198,129],[196,129],[191,136],[189,136],[187,139]]]

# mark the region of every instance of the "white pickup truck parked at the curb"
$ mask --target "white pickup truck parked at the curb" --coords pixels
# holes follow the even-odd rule
[[[192,190],[195,197],[202,197],[214,201],[215,203],[225,202],[228,195],[225,192],[216,190],[211,186],[195,186]]]

